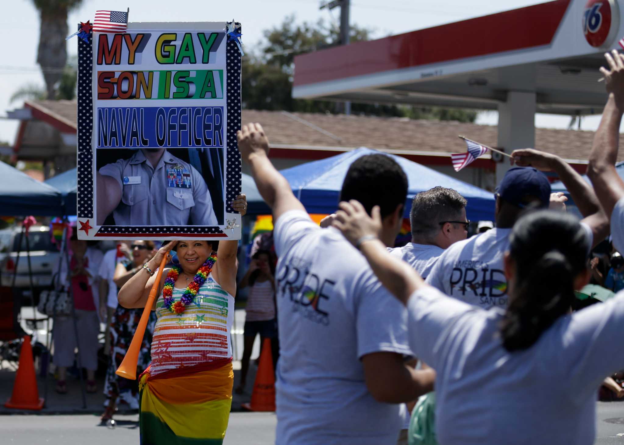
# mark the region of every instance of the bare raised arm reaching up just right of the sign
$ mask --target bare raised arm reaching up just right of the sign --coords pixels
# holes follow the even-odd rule
[[[273,221],[276,222],[288,210],[305,210],[293,195],[286,178],[271,164],[268,158],[269,141],[261,125],[243,125],[237,135],[241,158],[250,166],[258,192],[271,207]]]

